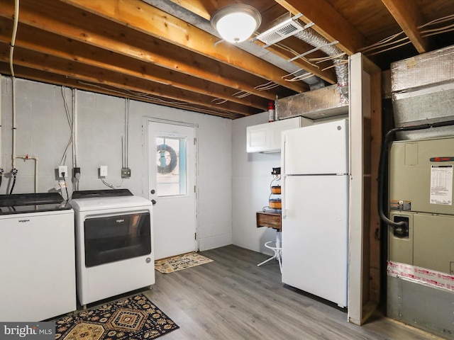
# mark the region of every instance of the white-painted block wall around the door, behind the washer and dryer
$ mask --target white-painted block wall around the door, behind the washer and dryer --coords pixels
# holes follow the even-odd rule
[[[1,167],[5,174],[0,194],[11,190],[12,96],[11,78],[1,77]],[[64,89],[72,113],[72,90]],[[125,100],[77,91],[79,190],[106,189],[98,178],[108,166],[106,182],[121,185],[121,136],[124,136]],[[160,118],[197,125],[198,185],[197,233],[199,249],[232,243],[232,121],[150,103],[131,101],[129,157],[131,179],[123,181],[134,195],[147,198],[143,169],[143,118]],[[38,192],[55,190],[57,169],[70,138],[62,87],[16,79],[16,154],[38,157]],[[65,165],[72,169],[72,147]],[[32,193],[34,161],[16,161],[18,176],[13,193]],[[72,183],[67,181],[72,194]],[[66,198],[65,191],[62,196]]]

